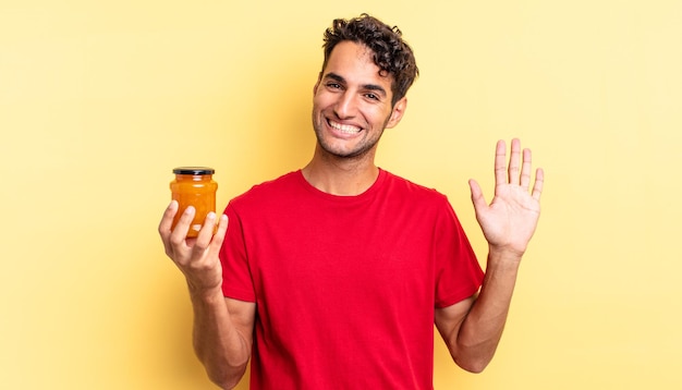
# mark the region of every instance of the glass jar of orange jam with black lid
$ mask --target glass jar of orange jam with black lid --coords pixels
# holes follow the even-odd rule
[[[170,183],[173,200],[178,200],[178,214],[173,219],[173,229],[187,208],[194,206],[196,214],[187,231],[188,237],[196,237],[206,216],[216,211],[216,192],[218,183],[214,181],[216,170],[207,167],[180,167],[173,169],[175,180]]]

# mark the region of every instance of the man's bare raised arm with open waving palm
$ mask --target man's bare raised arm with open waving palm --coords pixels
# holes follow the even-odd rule
[[[504,142],[495,156],[495,197],[487,205],[475,181],[470,181],[476,219],[488,241],[486,276],[478,296],[437,309],[435,322],[454,362],[479,373],[492,359],[507,322],[521,258],[540,214],[544,172],[531,185],[531,150],[512,141],[509,169]]]

